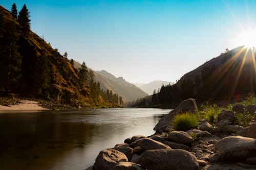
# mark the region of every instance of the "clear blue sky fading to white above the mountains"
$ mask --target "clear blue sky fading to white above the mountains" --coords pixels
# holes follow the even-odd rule
[[[244,45],[244,33],[256,36],[253,0],[0,0],[9,11],[13,3],[18,11],[26,4],[31,30],[60,54],[131,83],[176,82]]]

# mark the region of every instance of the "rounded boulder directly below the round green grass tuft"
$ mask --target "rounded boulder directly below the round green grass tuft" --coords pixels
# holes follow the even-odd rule
[[[194,141],[187,132],[183,132],[183,131],[170,132],[168,135],[168,138],[170,141],[173,141],[176,143],[182,143],[186,145],[190,145]]]

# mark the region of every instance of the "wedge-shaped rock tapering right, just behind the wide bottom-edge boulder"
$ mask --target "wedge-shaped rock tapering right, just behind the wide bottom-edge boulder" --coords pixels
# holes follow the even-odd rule
[[[171,149],[168,145],[150,138],[140,139],[138,145],[144,150]]]

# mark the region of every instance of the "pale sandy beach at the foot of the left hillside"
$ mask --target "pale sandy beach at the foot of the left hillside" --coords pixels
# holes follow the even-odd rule
[[[20,100],[18,105],[2,106],[0,105],[0,112],[3,111],[25,111],[25,110],[48,110],[38,105],[38,102],[29,100]]]

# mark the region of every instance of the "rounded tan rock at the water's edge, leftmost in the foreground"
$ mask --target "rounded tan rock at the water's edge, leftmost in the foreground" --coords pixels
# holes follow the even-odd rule
[[[93,170],[112,170],[118,162],[127,162],[127,157],[114,149],[100,151],[93,165]]]

